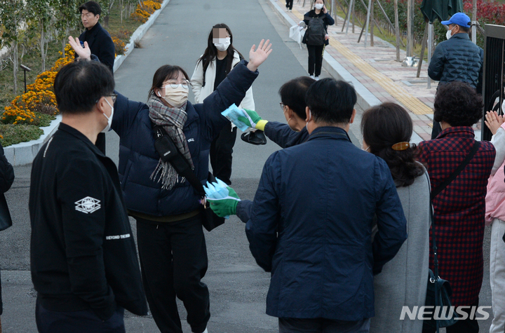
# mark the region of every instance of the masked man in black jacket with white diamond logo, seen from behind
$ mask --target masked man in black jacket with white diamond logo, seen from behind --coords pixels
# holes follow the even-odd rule
[[[39,332],[125,332],[147,314],[135,242],[114,162],[94,143],[114,114],[103,64],[72,62],[55,79],[62,123],[34,159],[30,264]]]

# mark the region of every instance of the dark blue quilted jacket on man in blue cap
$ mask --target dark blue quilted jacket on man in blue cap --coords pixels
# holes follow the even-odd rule
[[[477,92],[482,89],[484,50],[459,33],[438,44],[428,67],[428,75],[440,83],[463,81]]]

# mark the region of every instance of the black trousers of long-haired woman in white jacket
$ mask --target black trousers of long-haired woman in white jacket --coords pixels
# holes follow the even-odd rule
[[[236,140],[236,127],[231,130],[231,123],[224,126],[220,134],[210,144],[210,166],[213,175],[231,185],[231,162]]]

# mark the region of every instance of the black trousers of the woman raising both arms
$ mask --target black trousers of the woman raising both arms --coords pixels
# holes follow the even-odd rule
[[[175,297],[184,303],[191,331],[203,332],[210,318],[209,292],[201,282],[208,266],[201,215],[155,224],[137,219],[142,282],[161,333],[182,333]]]

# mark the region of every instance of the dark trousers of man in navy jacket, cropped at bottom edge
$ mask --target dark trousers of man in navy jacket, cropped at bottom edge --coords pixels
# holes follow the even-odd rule
[[[368,333],[369,331],[370,318],[352,322],[325,318],[279,318],[279,333]]]

